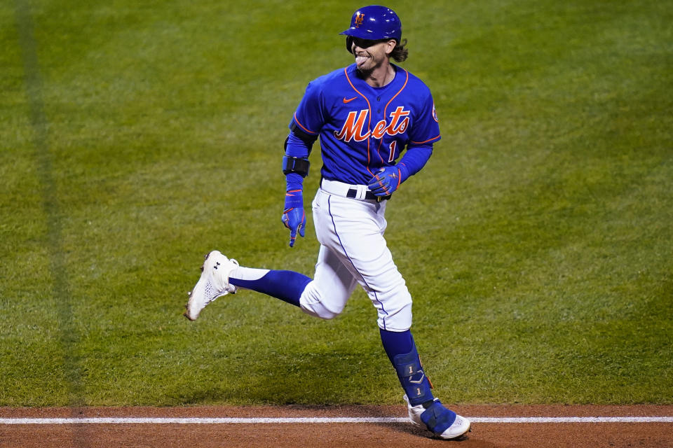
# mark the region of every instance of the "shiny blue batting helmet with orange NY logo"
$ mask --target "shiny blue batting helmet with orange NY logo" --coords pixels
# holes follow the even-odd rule
[[[395,39],[399,43],[402,39],[402,22],[395,11],[386,6],[365,6],[353,13],[351,27],[339,34],[369,41]]]

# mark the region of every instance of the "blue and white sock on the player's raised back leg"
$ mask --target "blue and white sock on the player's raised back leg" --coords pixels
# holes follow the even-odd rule
[[[310,281],[310,277],[299,272],[251,267],[238,267],[229,274],[229,283],[233,286],[271,295],[296,307],[299,307],[299,297]]]

